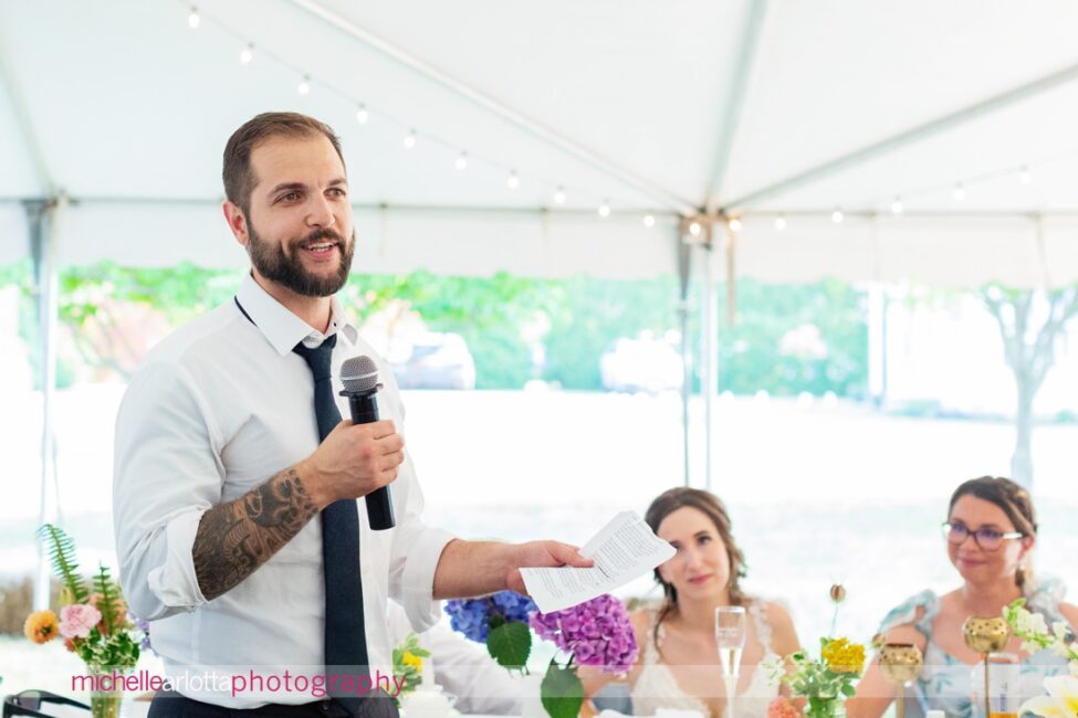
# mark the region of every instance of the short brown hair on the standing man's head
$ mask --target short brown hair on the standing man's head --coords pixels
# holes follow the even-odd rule
[[[344,155],[341,154],[341,140],[328,125],[313,117],[300,113],[262,113],[243,123],[232,133],[228,145],[224,146],[224,168],[221,171],[224,196],[250,218],[251,191],[258,181],[254,170],[251,169],[251,152],[254,148],[273,137],[317,135],[324,135],[329,140],[343,167]]]

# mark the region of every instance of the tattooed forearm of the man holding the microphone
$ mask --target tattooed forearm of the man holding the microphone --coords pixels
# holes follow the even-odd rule
[[[234,501],[206,511],[192,551],[202,595],[216,599],[251,576],[317,510],[295,467],[289,467]]]

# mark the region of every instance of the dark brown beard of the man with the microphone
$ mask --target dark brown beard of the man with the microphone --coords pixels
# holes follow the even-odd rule
[[[328,297],[341,291],[345,282],[348,281],[348,272],[352,270],[352,255],[356,249],[356,233],[353,231],[350,241],[346,242],[334,230],[315,230],[302,240],[290,240],[287,242],[289,252],[284,246],[266,242],[254,231],[254,225],[248,222],[248,254],[251,264],[259,274],[266,279],[280,284],[281,286],[295,292],[305,297]],[[313,244],[325,244],[327,241],[337,243],[337,251],[341,252],[341,266],[336,273],[327,276],[318,276],[307,272],[303,266],[300,252],[304,247]]]

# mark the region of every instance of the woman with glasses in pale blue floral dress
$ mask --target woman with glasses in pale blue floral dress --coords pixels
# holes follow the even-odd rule
[[[1034,580],[1030,559],[1037,520],[1029,493],[1014,482],[984,476],[959,486],[951,495],[943,535],[962,585],[943,595],[929,590],[918,593],[888,613],[880,632],[888,642],[912,643],[924,655],[921,676],[908,690],[908,697],[914,698],[907,701],[908,715],[940,709],[949,717],[970,717],[975,712],[971,676],[981,655],[962,638],[965,620],[998,616],[1004,606],[1025,596],[1026,608],[1044,614],[1049,625],[1066,621],[1074,631],[1078,608],[1061,601],[1059,581]],[[1064,658],[1047,650],[1029,655],[1015,637],[1006,652],[1021,658],[1024,698],[1044,694],[1045,676],[1067,672]],[[847,715],[879,718],[894,691],[873,662],[857,686],[857,696],[847,703]]]

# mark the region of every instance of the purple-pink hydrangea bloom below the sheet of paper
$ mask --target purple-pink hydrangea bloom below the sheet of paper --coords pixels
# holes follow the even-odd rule
[[[606,673],[626,673],[637,658],[637,640],[625,605],[608,593],[564,611],[536,613],[532,627],[553,641],[573,661],[599,666]]]

